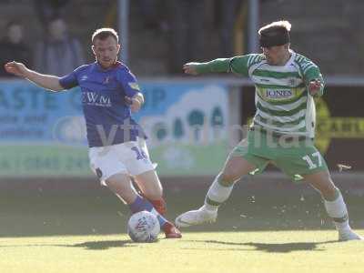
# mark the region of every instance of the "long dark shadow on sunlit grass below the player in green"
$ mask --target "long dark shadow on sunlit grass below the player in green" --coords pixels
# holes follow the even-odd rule
[[[254,247],[255,249],[250,248],[234,248],[233,250],[243,250],[243,251],[263,251],[268,253],[288,253],[292,251],[323,251],[324,249],[318,249],[319,245],[338,243],[337,240],[324,241],[324,242],[297,242],[297,243],[283,243],[283,244],[269,244],[269,243],[234,243],[234,242],[224,242],[217,240],[190,240],[190,242],[195,243],[207,243],[207,244],[217,244],[217,245],[227,245],[227,246],[247,246]],[[222,249],[220,249],[222,250]],[[226,249],[228,250],[228,248]]]

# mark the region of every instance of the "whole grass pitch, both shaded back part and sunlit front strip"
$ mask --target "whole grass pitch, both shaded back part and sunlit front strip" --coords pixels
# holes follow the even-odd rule
[[[205,191],[169,187],[167,217],[199,206]],[[0,272],[364,272],[364,242],[337,241],[318,194],[254,192],[237,186],[217,223],[151,244],[130,241],[128,209],[106,189],[1,192]],[[345,197],[364,235],[362,197]]]

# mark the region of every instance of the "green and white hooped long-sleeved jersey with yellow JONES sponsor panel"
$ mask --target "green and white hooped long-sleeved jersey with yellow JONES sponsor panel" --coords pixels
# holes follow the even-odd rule
[[[285,66],[269,66],[262,54],[235,56],[204,63],[197,72],[234,72],[249,76],[256,86],[254,126],[283,135],[314,137],[316,110],[308,83],[319,79],[319,67],[307,57],[290,51]],[[228,66],[222,66],[223,63]],[[214,63],[215,62],[215,63]],[[208,69],[207,69],[208,68]],[[323,94],[323,86],[319,96]]]

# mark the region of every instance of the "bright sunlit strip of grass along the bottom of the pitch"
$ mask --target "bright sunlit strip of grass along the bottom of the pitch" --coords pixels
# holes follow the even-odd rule
[[[7,273],[361,273],[363,254],[364,242],[339,243],[333,230],[191,232],[150,244],[126,234],[0,239],[0,268]]]

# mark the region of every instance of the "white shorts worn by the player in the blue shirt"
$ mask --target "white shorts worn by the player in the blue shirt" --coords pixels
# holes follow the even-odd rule
[[[116,174],[137,176],[156,167],[149,159],[146,142],[140,138],[107,147],[91,147],[88,157],[102,185]]]

